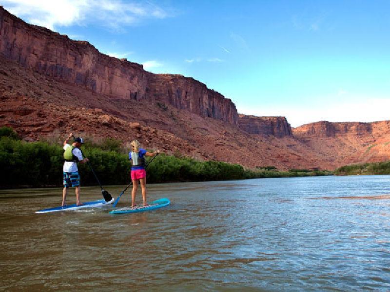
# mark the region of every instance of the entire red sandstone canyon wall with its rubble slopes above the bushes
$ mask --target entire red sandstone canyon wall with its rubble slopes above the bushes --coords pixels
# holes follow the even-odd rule
[[[69,129],[206,160],[279,169],[390,159],[390,121],[291,128],[285,117],[237,114],[193,78],[146,72],[0,8],[0,126],[28,141]],[[137,112],[137,114],[134,114]],[[136,125],[136,126],[135,126]],[[238,127],[237,127],[238,126]]]

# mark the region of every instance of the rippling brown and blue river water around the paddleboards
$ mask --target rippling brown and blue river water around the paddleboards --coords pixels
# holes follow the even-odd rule
[[[116,197],[123,188],[106,189]],[[121,216],[35,214],[59,205],[61,189],[0,191],[0,290],[390,290],[389,176],[148,190],[149,201],[172,204]],[[82,201],[99,196],[98,187],[82,188]],[[128,204],[130,192],[118,207]]]

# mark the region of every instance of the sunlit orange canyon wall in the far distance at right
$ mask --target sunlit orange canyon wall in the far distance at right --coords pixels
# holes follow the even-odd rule
[[[336,167],[390,159],[390,121],[320,121],[293,128],[292,133],[297,141]]]

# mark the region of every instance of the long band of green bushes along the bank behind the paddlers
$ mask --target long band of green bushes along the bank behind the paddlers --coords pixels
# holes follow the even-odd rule
[[[39,187],[61,186],[63,149],[62,145],[49,142],[25,142],[11,128],[0,128],[0,186]],[[88,142],[82,147],[85,157],[96,171],[103,185],[128,184],[130,161],[121,141],[103,139],[100,144]],[[150,158],[147,159],[147,162]],[[78,164],[81,184],[96,185],[90,168]],[[276,178],[296,176],[331,175],[330,171],[277,171],[269,169],[250,170],[239,164],[206,161],[189,157],[160,154],[149,165],[148,183],[201,182]]]

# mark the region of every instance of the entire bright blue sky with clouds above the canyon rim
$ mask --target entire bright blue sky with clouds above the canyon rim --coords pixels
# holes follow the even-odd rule
[[[387,120],[389,0],[0,0],[154,73],[191,76],[239,113],[310,122]]]

